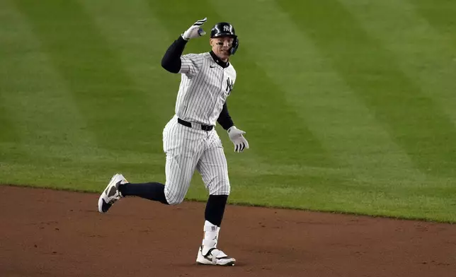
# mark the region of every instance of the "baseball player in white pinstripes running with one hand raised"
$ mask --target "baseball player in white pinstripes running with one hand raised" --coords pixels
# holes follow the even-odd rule
[[[227,108],[227,97],[236,81],[236,71],[229,58],[238,49],[239,40],[231,24],[217,23],[210,32],[212,51],[182,55],[189,40],[205,35],[202,26],[206,20],[198,20],[181,34],[161,61],[166,71],[181,73],[175,114],[163,130],[166,184],[131,184],[116,174],[98,199],[98,211],[106,213],[115,201],[125,196],[180,204],[196,169],[210,194],[205,208],[203,242],[196,261],[234,266],[236,260],[217,248],[230,184],[222,141],[214,126],[218,122],[227,130],[234,151],[249,148],[245,132],[234,126]]]

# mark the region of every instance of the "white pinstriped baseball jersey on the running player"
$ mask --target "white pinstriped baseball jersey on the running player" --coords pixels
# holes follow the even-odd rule
[[[236,81],[232,64],[222,68],[209,52],[181,56],[176,114],[188,122],[215,125]]]

